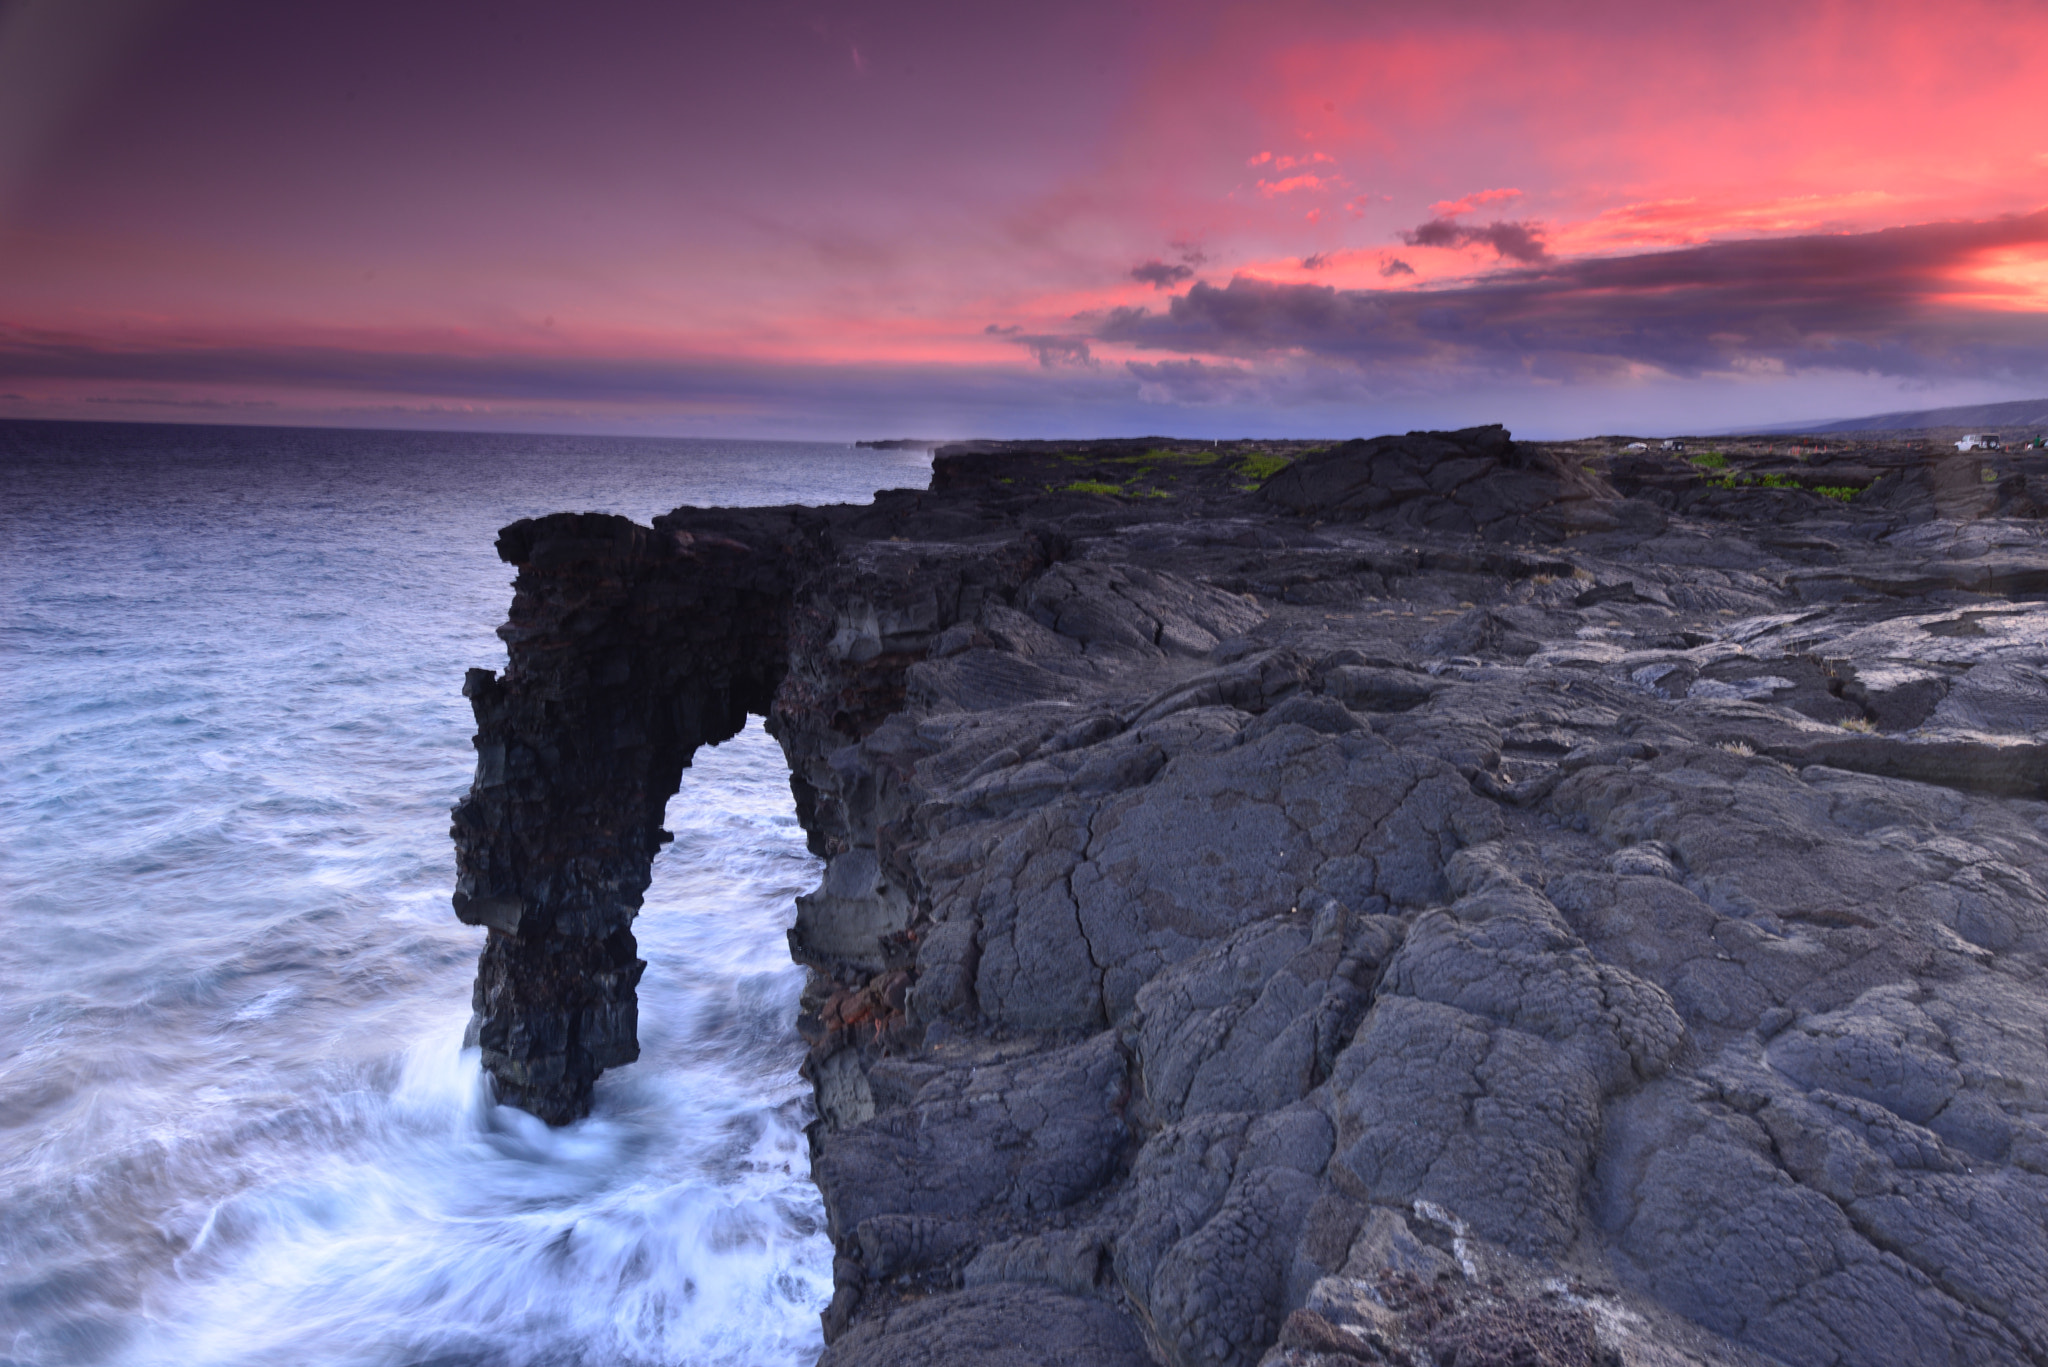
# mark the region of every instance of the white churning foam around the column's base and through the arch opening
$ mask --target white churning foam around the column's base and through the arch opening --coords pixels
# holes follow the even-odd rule
[[[596,1115],[551,1129],[494,1105],[465,1012],[440,1008],[260,1144],[199,1125],[186,1148],[240,1180],[190,1232],[172,1221],[184,1248],[121,1361],[815,1357],[831,1254],[795,1072],[801,974],[778,945],[811,863],[774,810],[776,758],[754,730],[686,777],[639,920],[647,1058],[606,1078]]]

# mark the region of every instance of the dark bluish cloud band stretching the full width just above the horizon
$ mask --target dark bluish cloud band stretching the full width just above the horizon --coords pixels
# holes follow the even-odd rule
[[[932,430],[1100,432],[1157,424],[1161,402],[1233,406],[1262,424],[1286,424],[1307,422],[1307,404],[1356,412],[1407,393],[1438,396],[1430,400],[1438,408],[1473,396],[1499,404],[1507,387],[1530,379],[1585,381],[1591,393],[1636,367],[1681,379],[1833,369],[2032,381],[2048,377],[2048,314],[1976,303],[1956,281],[1985,252],[2044,246],[2048,211],[1606,260],[1544,258],[1450,289],[1194,281],[1163,309],[1114,309],[1077,320],[1067,334],[989,324],[993,348],[1026,350],[1038,363],[1030,371],[995,355],[987,367],[465,355],[424,338],[387,350],[115,340],[0,324],[0,398],[20,391],[10,406],[37,408],[31,391],[88,385],[109,396],[92,400],[102,406],[164,406],[170,400],[158,393],[182,393],[172,406],[193,408],[219,400],[195,387],[225,387],[238,391],[240,408],[291,408],[293,396],[330,393],[338,402],[557,404],[592,414],[680,406],[733,422],[809,414],[774,420],[793,430],[901,426],[913,414]],[[1403,264],[1389,258],[1382,273]],[[1104,342],[1180,357],[1108,367],[1094,353]]]

